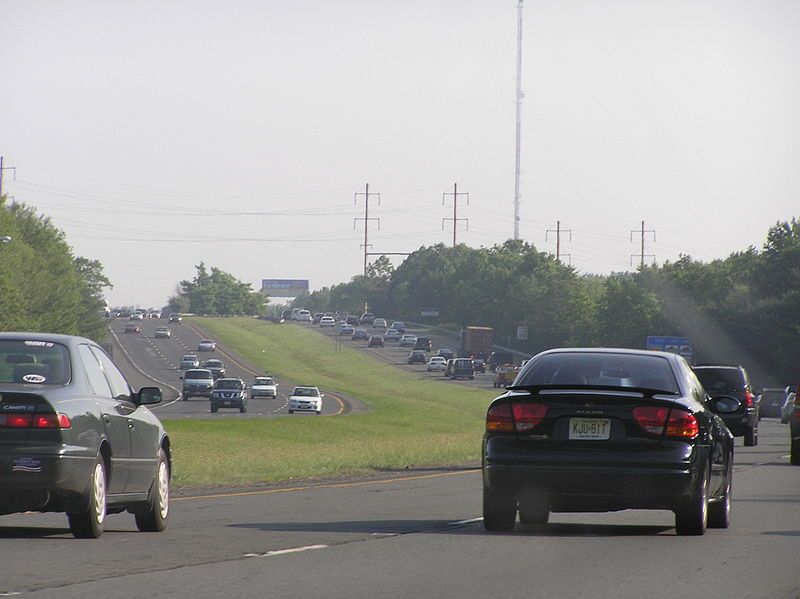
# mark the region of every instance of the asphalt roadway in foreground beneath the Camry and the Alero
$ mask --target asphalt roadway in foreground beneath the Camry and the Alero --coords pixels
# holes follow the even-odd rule
[[[634,510],[488,534],[475,470],[405,472],[176,497],[161,534],[126,514],[97,540],[62,514],[4,516],[0,596],[797,598],[800,468],[787,427],[761,427],[737,440],[731,528],[702,537]]]

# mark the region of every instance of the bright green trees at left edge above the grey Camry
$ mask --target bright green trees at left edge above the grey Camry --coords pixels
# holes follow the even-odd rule
[[[49,217],[0,200],[0,329],[82,335],[103,341],[103,290],[97,260],[75,256]]]

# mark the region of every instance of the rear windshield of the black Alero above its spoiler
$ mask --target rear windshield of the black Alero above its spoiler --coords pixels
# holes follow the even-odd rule
[[[678,393],[669,362],[659,356],[556,353],[526,368],[521,385],[644,387]]]

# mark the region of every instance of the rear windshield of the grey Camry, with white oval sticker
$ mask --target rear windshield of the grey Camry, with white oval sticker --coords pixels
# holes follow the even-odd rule
[[[69,351],[49,341],[0,341],[0,383],[65,385],[70,379]]]

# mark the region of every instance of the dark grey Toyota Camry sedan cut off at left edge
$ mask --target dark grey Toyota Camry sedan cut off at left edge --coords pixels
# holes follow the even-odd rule
[[[66,512],[72,534],[97,538],[127,510],[162,531],[172,470],[164,427],[93,341],[0,333],[0,514]]]

